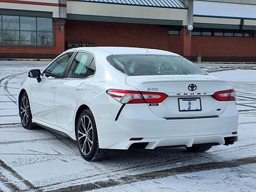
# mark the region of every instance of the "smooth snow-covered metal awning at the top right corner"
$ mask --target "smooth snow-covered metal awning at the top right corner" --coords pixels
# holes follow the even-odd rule
[[[195,0],[194,16],[256,20],[256,5]]]

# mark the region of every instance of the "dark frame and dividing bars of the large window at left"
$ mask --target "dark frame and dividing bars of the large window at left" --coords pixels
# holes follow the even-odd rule
[[[38,46],[38,47],[53,47],[54,46],[54,21],[52,17],[38,17],[38,16],[24,16],[24,15],[8,15],[8,14],[0,14],[1,15],[1,24],[3,26],[3,16],[18,16],[19,18],[19,29],[18,30],[5,30],[3,29],[3,27],[1,26],[0,28],[0,33],[2,34],[2,40],[0,42],[0,45],[2,46]],[[20,29],[20,17],[31,17],[31,18],[36,18],[36,30],[21,30]],[[38,32],[49,32],[49,31],[40,31],[37,30],[37,20],[38,18],[50,18],[52,19],[52,31],[50,33],[52,33],[52,45],[38,45]],[[19,44],[4,44],[4,31],[18,31],[19,32]],[[20,32],[36,32],[36,44],[21,44],[21,39],[20,39]]]

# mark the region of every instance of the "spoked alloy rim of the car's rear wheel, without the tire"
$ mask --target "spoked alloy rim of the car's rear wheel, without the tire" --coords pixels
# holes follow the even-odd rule
[[[78,142],[84,155],[92,150],[93,130],[92,122],[88,116],[82,116],[78,126]]]

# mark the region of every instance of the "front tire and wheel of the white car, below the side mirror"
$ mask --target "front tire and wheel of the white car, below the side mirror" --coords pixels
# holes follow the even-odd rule
[[[25,129],[34,129],[35,124],[32,122],[32,114],[28,100],[28,94],[24,92],[19,102],[20,121]]]

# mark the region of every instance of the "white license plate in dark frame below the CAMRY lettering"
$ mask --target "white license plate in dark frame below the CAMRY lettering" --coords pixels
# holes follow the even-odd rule
[[[178,98],[179,111],[202,111],[201,98]]]

